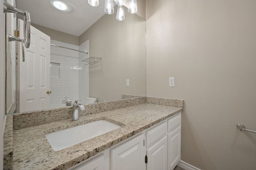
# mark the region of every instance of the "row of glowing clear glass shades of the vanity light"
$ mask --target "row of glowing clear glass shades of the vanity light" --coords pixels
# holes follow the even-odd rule
[[[124,14],[124,5],[126,4],[126,0],[114,0],[116,4],[118,5],[117,7],[117,13],[116,13],[116,19],[119,21],[124,20],[125,14]],[[99,0],[88,0],[88,3],[91,6],[98,6],[99,5]],[[104,9],[106,14],[113,14],[114,13],[114,5],[113,5],[113,0],[105,0],[105,9]],[[128,12],[131,14],[135,14],[137,12],[137,0],[129,0],[128,4]]]

